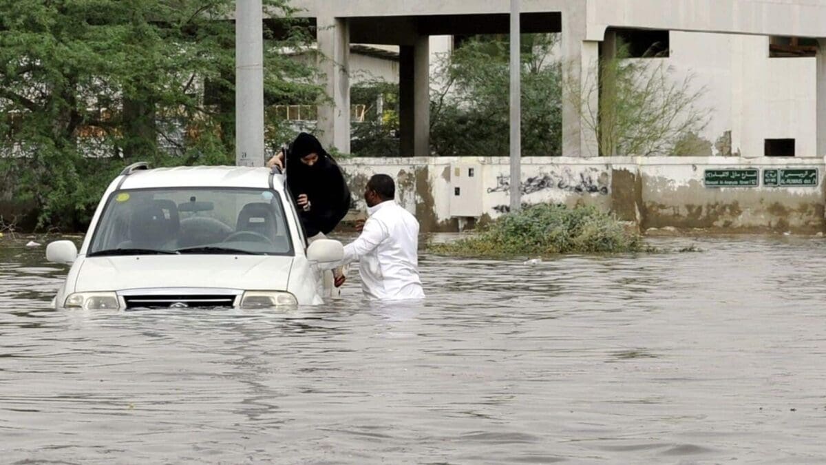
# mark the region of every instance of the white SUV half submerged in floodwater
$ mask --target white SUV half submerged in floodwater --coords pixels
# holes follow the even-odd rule
[[[278,169],[136,163],[112,181],[83,246],[52,242],[71,264],[56,308],[269,308],[321,304],[340,242],[306,247]]]

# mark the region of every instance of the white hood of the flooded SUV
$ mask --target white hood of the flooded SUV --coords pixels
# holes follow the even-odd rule
[[[74,292],[145,288],[287,290],[292,256],[144,255],[84,258]]]

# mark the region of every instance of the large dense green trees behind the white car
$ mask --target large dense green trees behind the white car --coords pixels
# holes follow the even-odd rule
[[[264,6],[289,14],[286,0]],[[234,0],[0,2],[0,156],[16,156],[12,194],[36,202],[41,227],[82,225],[132,161],[232,163],[234,12]],[[315,101],[315,71],[278,52],[308,38],[268,24],[266,100]]]

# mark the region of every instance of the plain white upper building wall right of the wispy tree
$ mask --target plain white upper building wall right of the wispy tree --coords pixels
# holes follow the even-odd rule
[[[663,62],[673,79],[691,77],[705,89],[697,107],[711,110],[699,134],[711,150],[697,155],[760,157],[765,139],[795,139],[795,156],[818,155],[816,59],[769,58],[767,36],[672,31],[671,50]]]

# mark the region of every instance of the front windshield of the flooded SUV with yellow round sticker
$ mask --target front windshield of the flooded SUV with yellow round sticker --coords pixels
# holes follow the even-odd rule
[[[281,196],[267,189],[118,190],[88,256],[178,253],[292,255]]]

